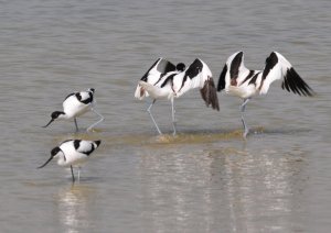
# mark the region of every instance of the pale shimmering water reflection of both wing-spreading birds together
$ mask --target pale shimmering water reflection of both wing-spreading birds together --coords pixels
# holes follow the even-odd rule
[[[146,229],[182,232],[291,230],[305,186],[301,152],[167,146],[140,163]],[[162,153],[163,152],[163,153]],[[303,178],[302,178],[303,176]],[[305,198],[305,197],[303,197]],[[295,214],[296,215],[296,214]]]

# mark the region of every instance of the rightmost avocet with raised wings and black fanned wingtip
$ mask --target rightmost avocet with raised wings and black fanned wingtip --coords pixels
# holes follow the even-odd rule
[[[302,80],[292,65],[279,53],[273,52],[266,59],[263,70],[252,70],[244,65],[244,53],[231,55],[220,75],[217,91],[225,91],[244,100],[241,106],[244,137],[249,130],[245,123],[244,112],[247,102],[255,95],[266,95],[270,85],[281,79],[281,88],[299,96],[313,95],[312,89]]]

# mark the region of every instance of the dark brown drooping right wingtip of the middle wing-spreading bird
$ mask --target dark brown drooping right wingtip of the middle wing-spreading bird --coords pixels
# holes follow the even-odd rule
[[[212,107],[213,109],[220,111],[218,98],[216,93],[215,84],[212,77],[209,77],[204,81],[203,88],[200,89],[202,99],[204,100],[206,107]]]

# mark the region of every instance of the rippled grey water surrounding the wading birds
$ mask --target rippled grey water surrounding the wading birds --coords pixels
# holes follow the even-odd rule
[[[3,0],[0,2],[1,232],[330,232],[329,0]],[[263,69],[278,51],[316,91],[298,97],[275,82],[246,109],[218,93],[220,112],[199,90],[152,111],[134,98],[158,57],[202,58],[214,80],[245,52]],[[105,116],[54,122],[73,91],[96,89]],[[67,138],[102,140],[71,182],[55,162],[36,169]]]

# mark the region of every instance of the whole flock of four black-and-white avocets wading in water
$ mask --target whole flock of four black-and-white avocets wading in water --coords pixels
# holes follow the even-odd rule
[[[157,100],[166,99],[171,102],[171,119],[173,135],[177,134],[177,120],[174,99],[180,98],[191,89],[200,89],[201,97],[206,107],[220,111],[217,91],[225,90],[226,93],[243,99],[241,106],[241,119],[243,123],[243,137],[246,138],[249,127],[246,124],[244,113],[246,104],[256,95],[266,95],[270,85],[281,80],[281,88],[299,96],[312,97],[313,90],[303,81],[292,65],[278,52],[271,52],[266,58],[261,70],[253,70],[245,67],[244,53],[237,52],[231,55],[221,71],[217,86],[209,66],[200,58],[193,60],[188,67],[183,63],[173,65],[160,57],[147,70],[138,81],[135,98],[142,100],[147,97],[152,99],[147,112],[153,122],[156,130],[162,134],[151,109]],[[104,121],[104,116],[96,111],[95,89],[73,92],[63,101],[63,111],[54,111],[47,127],[55,120],[74,120],[76,132],[78,132],[77,118],[92,111],[99,120],[87,127],[92,131]],[[51,151],[51,157],[40,167],[46,166],[53,158],[57,159],[60,166],[70,167],[72,180],[75,182],[73,166],[78,167],[78,180],[82,165],[89,155],[100,145],[102,141],[70,140],[62,142]]]

